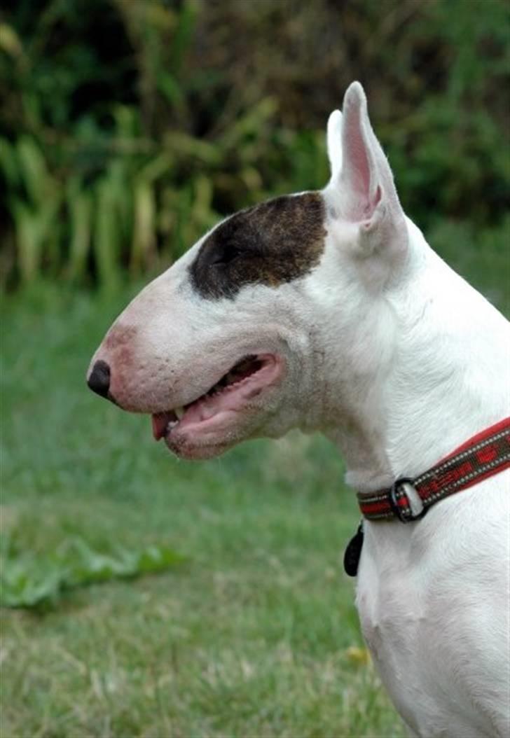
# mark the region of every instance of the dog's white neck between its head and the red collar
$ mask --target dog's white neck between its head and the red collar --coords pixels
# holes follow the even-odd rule
[[[509,415],[509,324],[410,221],[408,228],[407,279],[387,291],[373,317],[372,351],[381,361],[348,407],[344,397],[331,408],[337,424],[325,430],[345,458],[348,485],[360,492],[426,471]],[[345,378],[336,396],[344,386]]]

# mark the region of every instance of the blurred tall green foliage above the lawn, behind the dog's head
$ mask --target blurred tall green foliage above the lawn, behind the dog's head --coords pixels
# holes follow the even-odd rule
[[[505,0],[4,0],[1,280],[112,286],[323,186],[356,78],[404,207],[452,221],[434,245],[466,221],[503,244],[508,39]]]

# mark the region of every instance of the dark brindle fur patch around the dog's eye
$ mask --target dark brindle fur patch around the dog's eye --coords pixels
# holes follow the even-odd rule
[[[202,297],[234,297],[242,286],[278,287],[317,266],[324,249],[325,207],[317,192],[276,197],[221,223],[190,266]]]

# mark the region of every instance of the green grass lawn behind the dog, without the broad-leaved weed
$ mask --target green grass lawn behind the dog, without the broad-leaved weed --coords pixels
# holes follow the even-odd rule
[[[503,256],[468,253],[503,303]],[[337,452],[291,435],[170,457],[148,418],[86,390],[127,297],[40,287],[4,301],[2,573],[51,579],[83,544],[185,561],[4,609],[1,736],[403,735],[342,572],[358,516]]]

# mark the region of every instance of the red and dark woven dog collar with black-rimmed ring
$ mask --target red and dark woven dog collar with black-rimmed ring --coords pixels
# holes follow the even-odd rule
[[[461,492],[509,466],[510,418],[505,418],[469,438],[415,479],[401,477],[390,489],[373,494],[358,493],[359,508],[368,520],[396,517],[402,523],[409,523],[423,517],[431,505],[449,494]],[[410,497],[411,491],[414,492]]]

